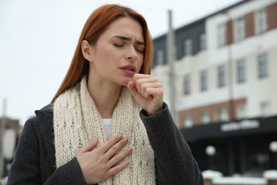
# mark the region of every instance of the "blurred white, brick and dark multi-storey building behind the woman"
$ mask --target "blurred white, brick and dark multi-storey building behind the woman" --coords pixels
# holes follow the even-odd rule
[[[174,33],[174,77],[167,34],[153,39],[152,74],[169,105],[175,83],[178,127],[200,169],[277,169],[268,147],[277,140],[277,0],[240,1]]]

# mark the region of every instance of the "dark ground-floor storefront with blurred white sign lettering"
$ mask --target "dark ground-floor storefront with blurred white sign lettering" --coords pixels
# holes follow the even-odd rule
[[[265,170],[277,169],[277,154],[268,147],[277,140],[277,116],[198,125],[181,132],[201,171],[261,176]],[[207,155],[207,146],[216,152]]]

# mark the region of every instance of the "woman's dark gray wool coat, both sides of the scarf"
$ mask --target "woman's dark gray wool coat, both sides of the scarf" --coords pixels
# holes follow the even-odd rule
[[[203,184],[197,162],[172,120],[168,106],[140,112],[154,151],[157,184]],[[53,104],[36,111],[23,127],[7,184],[87,184],[76,157],[55,166]]]

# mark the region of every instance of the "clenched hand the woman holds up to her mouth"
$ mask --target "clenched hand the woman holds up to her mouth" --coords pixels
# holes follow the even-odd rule
[[[163,87],[158,78],[137,73],[127,87],[136,103],[146,110],[148,115],[153,115],[163,109]]]

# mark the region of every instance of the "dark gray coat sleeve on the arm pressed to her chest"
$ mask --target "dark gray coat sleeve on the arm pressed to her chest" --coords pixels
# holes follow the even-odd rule
[[[23,127],[7,184],[86,184],[76,158],[58,169],[50,168],[35,124],[36,117]]]

